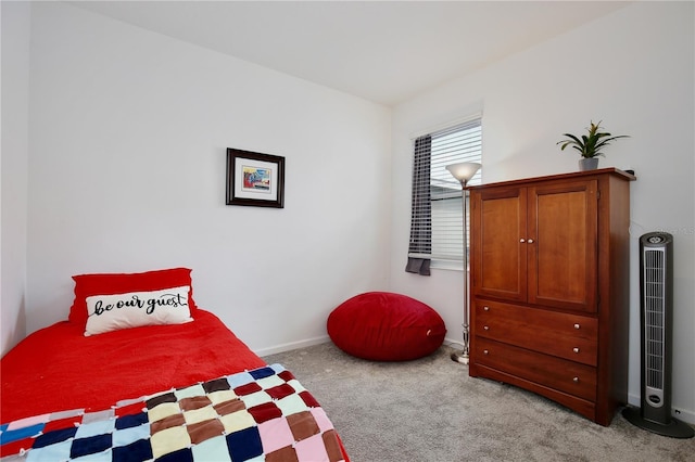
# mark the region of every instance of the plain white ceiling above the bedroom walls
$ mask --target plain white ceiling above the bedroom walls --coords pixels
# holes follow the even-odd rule
[[[392,106],[630,2],[70,3]]]

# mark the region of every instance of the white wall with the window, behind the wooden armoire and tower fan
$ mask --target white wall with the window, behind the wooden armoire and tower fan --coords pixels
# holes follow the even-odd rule
[[[619,140],[603,167],[633,168],[630,401],[640,399],[639,238],[674,235],[674,409],[695,423],[695,106],[692,2],[637,2],[394,111],[392,286],[435,307],[460,341],[462,273],[405,273],[410,136],[483,111],[483,182],[577,170],[561,133],[604,120]],[[648,25],[648,27],[645,27]],[[628,277],[628,275],[626,275]]]

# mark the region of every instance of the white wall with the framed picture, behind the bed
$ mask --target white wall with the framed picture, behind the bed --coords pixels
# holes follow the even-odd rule
[[[29,332],[83,272],[192,268],[260,354],[386,287],[390,110],[71,5],[31,20]],[[286,157],[283,209],[225,205],[227,147]]]

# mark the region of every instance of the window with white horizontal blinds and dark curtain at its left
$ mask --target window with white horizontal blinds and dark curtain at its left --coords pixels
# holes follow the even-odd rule
[[[463,269],[464,219],[460,183],[446,170],[482,158],[482,125],[476,117],[415,140],[413,209],[406,271],[429,274],[434,268]],[[479,184],[481,170],[468,184]],[[468,232],[468,230],[466,230]]]

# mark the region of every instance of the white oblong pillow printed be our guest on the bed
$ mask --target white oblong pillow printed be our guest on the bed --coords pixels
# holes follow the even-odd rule
[[[119,329],[182,324],[193,320],[188,307],[189,285],[150,292],[92,295],[87,301],[85,336]]]

